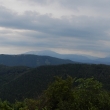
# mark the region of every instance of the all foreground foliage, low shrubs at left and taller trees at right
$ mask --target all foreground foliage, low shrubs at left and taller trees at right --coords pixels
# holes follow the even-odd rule
[[[0,110],[110,110],[110,96],[94,78],[57,77],[38,100],[0,101]]]

